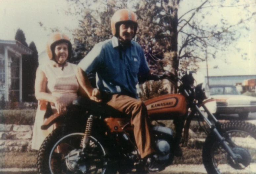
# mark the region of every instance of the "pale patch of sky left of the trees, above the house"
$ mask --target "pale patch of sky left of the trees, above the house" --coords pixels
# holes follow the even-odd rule
[[[61,10],[67,8],[65,0],[0,0],[0,40],[14,40],[20,28],[27,44],[33,41],[40,53],[45,50],[51,34],[44,27],[59,27],[64,30],[65,27],[73,29],[78,25],[76,18],[64,15]],[[60,12],[56,9],[60,9]],[[65,33],[72,37],[71,33]]]

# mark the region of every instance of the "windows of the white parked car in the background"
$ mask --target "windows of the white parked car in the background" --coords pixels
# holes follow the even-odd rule
[[[240,95],[236,87],[210,87],[210,95]]]

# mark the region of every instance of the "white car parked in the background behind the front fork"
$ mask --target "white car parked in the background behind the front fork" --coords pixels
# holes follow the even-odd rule
[[[209,87],[210,97],[215,98],[217,103],[216,116],[219,114],[238,114],[241,119],[246,119],[250,112],[256,112],[256,97],[242,95],[232,85]]]

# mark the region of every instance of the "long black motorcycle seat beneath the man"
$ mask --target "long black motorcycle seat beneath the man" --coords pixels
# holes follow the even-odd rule
[[[108,106],[102,102],[93,101],[85,97],[77,97],[72,104],[78,106],[82,110],[89,111],[93,115],[100,115],[100,116],[104,116],[105,118],[107,117],[126,118],[127,117],[126,114],[120,111],[117,111],[111,106]]]

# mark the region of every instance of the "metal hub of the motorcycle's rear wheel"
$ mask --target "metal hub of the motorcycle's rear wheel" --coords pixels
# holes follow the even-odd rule
[[[82,149],[75,149],[71,151],[66,157],[65,162],[67,169],[74,172],[74,171],[81,171],[86,173],[86,165],[84,161],[84,152]]]

